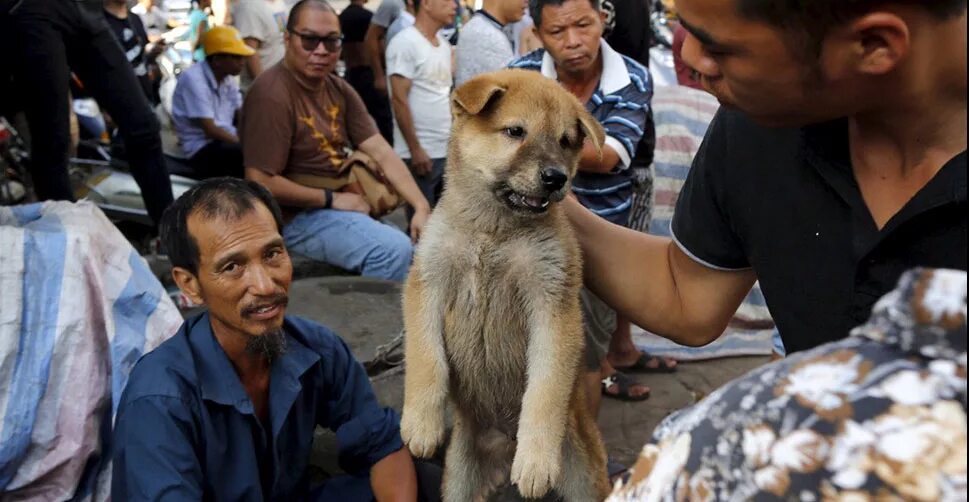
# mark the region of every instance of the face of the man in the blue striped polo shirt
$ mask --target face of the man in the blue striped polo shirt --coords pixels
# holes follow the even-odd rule
[[[545,5],[541,20],[535,31],[559,71],[582,73],[596,64],[603,26],[602,16],[590,0]]]

